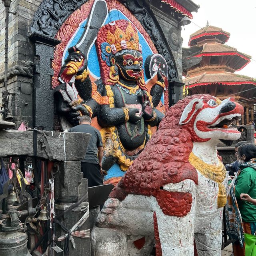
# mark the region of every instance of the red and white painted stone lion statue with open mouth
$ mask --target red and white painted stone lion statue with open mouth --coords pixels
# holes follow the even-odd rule
[[[188,96],[112,190],[91,234],[94,256],[220,256],[226,170],[216,145],[237,140],[233,98]]]

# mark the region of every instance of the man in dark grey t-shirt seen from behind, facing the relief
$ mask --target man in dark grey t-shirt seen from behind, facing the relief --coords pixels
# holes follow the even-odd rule
[[[84,178],[88,179],[88,187],[103,184],[101,161],[103,156],[102,138],[99,130],[91,126],[90,116],[81,116],[79,125],[70,128],[68,132],[86,132],[91,134],[84,160],[81,161],[81,170]]]

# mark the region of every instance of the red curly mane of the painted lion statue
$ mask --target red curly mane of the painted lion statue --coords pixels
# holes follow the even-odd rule
[[[198,184],[196,169],[188,158],[192,152],[193,141],[199,138],[194,132],[192,122],[182,126],[179,124],[183,110],[194,98],[207,102],[214,97],[195,94],[179,100],[169,108],[157,132],[112,190],[110,198],[124,200],[128,194],[136,194],[160,199],[159,192],[166,184],[178,183],[185,179]]]

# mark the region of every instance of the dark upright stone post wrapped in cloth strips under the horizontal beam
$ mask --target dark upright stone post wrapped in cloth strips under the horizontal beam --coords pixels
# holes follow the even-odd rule
[[[87,179],[82,178],[81,172],[81,162],[80,161],[72,161],[72,162],[62,162],[60,164],[60,171],[56,175],[55,178],[55,199],[66,196],[78,196],[78,200],[82,198],[85,194],[84,202],[88,204],[88,182]],[[62,203],[63,204],[63,203]],[[71,204],[74,204],[72,202]],[[63,210],[57,210],[56,206],[56,216],[61,214]],[[62,215],[58,220],[68,229],[71,228],[80,220],[80,218],[85,214],[85,212],[75,212],[70,211],[66,212]],[[89,218],[86,222],[79,228],[79,230],[88,230],[90,229],[90,220]],[[66,232],[60,227],[60,225],[56,224],[56,236],[60,237],[65,235]],[[90,238],[79,238],[73,236],[76,249],[73,248],[72,243],[69,242],[69,255],[83,255],[90,256]],[[64,241],[57,242],[60,248],[64,248]],[[58,254],[59,255],[59,254]],[[64,255],[64,251],[60,253],[60,255]]]

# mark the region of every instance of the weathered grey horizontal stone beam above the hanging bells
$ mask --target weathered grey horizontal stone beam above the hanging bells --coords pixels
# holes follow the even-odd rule
[[[76,132],[37,132],[37,156],[55,161],[82,160],[90,137],[90,134]],[[32,131],[0,130],[0,142],[2,157],[34,156]]]

